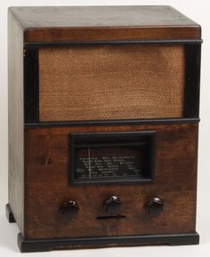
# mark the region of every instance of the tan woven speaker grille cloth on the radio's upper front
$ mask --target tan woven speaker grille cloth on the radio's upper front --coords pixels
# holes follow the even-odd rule
[[[183,45],[39,50],[40,121],[181,117]]]

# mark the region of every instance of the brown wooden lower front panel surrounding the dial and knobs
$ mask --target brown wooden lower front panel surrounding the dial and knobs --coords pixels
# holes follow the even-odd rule
[[[69,186],[69,133],[155,130],[155,180],[148,185]],[[64,238],[190,233],[195,230],[198,124],[141,124],[25,129],[26,238]],[[109,195],[122,201],[120,220],[97,220]],[[143,205],[165,201],[156,218]],[[58,212],[64,200],[80,210],[70,220]]]

